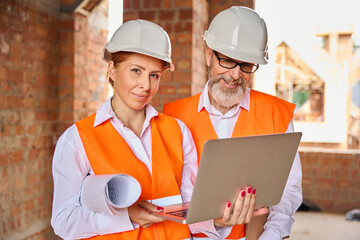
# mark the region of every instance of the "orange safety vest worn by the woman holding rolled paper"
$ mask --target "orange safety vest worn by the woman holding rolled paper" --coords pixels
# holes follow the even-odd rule
[[[180,195],[183,151],[182,132],[177,121],[164,114],[152,118],[152,176],[137,159],[109,120],[94,127],[95,114],[76,123],[86,155],[95,174],[125,173],[141,185],[140,199],[154,200]],[[189,239],[187,225],[173,221],[155,223],[149,228],[99,235],[90,239]]]

